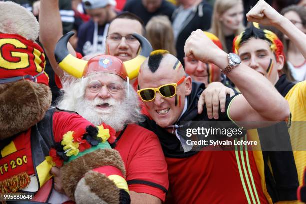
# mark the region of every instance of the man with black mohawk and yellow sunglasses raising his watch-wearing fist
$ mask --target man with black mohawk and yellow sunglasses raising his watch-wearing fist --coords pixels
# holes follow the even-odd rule
[[[212,119],[206,106],[202,106],[205,98],[200,94],[205,86],[191,82],[175,56],[156,51],[141,65],[137,92],[152,117],[142,125],[159,137],[168,164],[173,201],[267,203],[252,152],[209,151],[209,146],[206,151],[192,151],[186,142],[188,138],[182,134],[182,121],[232,120],[233,128],[235,123],[253,128],[258,125],[249,121],[285,120],[289,116],[287,102],[267,79],[239,64],[237,55],[227,55],[202,30],[194,31],[188,38],[185,53],[195,60],[216,64],[243,95],[227,96],[222,111],[225,113],[220,111],[219,117]],[[186,190],[182,193],[181,189]]]

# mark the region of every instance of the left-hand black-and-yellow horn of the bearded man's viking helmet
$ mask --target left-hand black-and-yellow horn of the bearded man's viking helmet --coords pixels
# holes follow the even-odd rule
[[[55,47],[55,59],[65,72],[76,78],[81,78],[88,61],[78,59],[69,53],[67,43],[73,35],[74,32],[71,31],[59,39]]]

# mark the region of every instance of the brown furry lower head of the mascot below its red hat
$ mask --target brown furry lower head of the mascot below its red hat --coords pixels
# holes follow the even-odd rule
[[[27,80],[0,84],[0,140],[42,120],[51,99],[51,90],[44,84]]]

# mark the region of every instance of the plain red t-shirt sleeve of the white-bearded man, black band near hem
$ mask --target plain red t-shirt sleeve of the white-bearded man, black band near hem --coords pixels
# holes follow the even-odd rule
[[[129,124],[115,149],[124,161],[129,190],[164,201],[169,182],[158,137],[139,125]]]

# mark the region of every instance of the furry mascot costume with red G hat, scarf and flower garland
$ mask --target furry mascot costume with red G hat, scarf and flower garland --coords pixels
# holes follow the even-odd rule
[[[12,2],[0,2],[0,10],[0,196],[22,192],[31,203],[129,203],[124,163],[109,144],[115,131],[50,108],[36,18]],[[52,166],[60,167],[66,195],[53,189]]]

